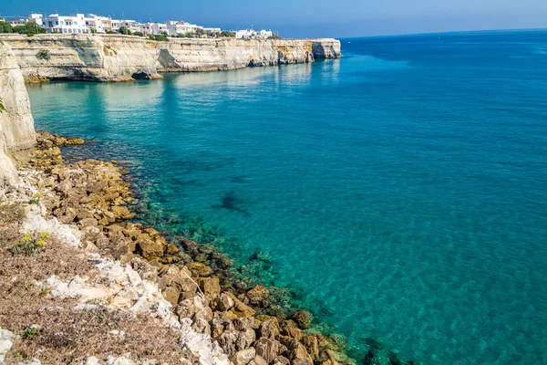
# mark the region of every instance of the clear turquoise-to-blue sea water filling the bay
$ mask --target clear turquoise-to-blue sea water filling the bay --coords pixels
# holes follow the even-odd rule
[[[215,227],[250,272],[268,256],[261,279],[357,353],[373,337],[430,364],[547,363],[547,32],[342,47],[29,93],[38,129],[131,162],[170,229]]]

